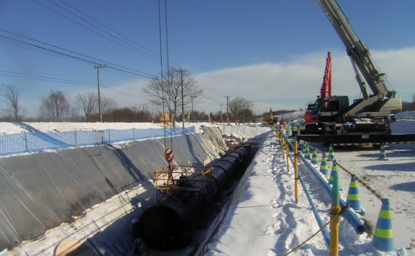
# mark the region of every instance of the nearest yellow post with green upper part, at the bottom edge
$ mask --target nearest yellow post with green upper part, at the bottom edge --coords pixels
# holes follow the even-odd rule
[[[333,173],[330,221],[330,256],[337,256],[339,254],[340,228],[340,184],[338,172]]]

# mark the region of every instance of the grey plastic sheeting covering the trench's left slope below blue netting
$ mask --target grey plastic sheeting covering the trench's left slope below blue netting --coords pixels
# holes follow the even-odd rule
[[[152,187],[149,180],[154,178],[154,168],[167,164],[166,142],[176,148],[177,165],[201,165],[224,153],[227,147],[219,128],[202,129],[205,134],[1,157],[0,251],[35,241],[62,223],[72,223],[125,190]],[[156,204],[156,191],[136,195],[134,201],[140,204],[136,210]],[[71,236],[82,233],[73,232]],[[130,233],[119,228],[112,235],[111,242],[128,250]]]

